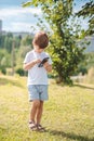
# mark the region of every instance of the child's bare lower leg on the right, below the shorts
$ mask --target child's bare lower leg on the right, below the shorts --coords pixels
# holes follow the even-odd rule
[[[42,112],[43,112],[43,101],[40,101],[40,105],[37,108],[37,125],[39,125],[41,121]]]

